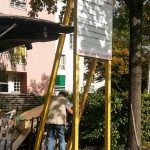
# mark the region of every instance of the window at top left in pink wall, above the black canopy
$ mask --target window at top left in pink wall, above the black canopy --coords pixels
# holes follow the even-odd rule
[[[10,6],[19,9],[26,9],[27,0],[10,0]]]

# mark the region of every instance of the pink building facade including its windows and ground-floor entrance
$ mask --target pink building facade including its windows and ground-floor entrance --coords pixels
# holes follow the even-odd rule
[[[28,16],[29,10],[29,0],[0,0],[2,14]],[[39,18],[55,21],[54,15],[49,15],[46,11],[39,13]],[[0,93],[45,94],[55,57],[55,43],[33,43],[32,49],[24,50],[27,64],[18,64],[16,70],[11,69],[10,61],[4,53],[0,62],[6,66],[7,79],[1,77]]]

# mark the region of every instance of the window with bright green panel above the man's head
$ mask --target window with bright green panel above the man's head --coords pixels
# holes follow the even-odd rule
[[[55,80],[55,91],[65,90],[65,75],[57,75]]]

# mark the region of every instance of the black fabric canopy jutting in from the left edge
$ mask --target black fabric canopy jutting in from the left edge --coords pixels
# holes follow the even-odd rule
[[[63,33],[72,33],[74,27],[43,19],[0,15],[0,52],[34,42],[57,40]]]

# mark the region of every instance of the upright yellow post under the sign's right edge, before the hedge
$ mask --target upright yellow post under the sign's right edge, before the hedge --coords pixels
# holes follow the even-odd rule
[[[106,61],[105,78],[105,150],[111,147],[111,61]]]

